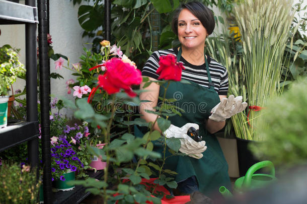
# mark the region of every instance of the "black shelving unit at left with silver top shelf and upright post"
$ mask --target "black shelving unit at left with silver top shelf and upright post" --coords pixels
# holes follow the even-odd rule
[[[35,1],[26,5],[0,0],[0,24],[26,25],[26,89],[27,121],[10,123],[0,129],[0,151],[28,142],[28,159],[32,166],[38,165],[38,117],[37,117],[37,64],[36,24],[38,24]]]

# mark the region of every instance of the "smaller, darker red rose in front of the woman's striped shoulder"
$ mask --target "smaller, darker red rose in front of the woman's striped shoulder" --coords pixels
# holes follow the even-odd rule
[[[157,74],[160,74],[158,80],[181,80],[181,72],[185,68],[181,62],[177,62],[177,57],[173,54],[161,56],[159,61],[160,67],[157,70]]]

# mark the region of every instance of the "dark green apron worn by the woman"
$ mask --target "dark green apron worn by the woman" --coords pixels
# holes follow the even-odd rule
[[[181,48],[177,55],[177,61],[181,57]],[[202,87],[194,82],[183,84],[172,81],[166,92],[166,98],[178,99],[174,105],[184,109],[182,116],[175,115],[168,119],[172,124],[178,127],[186,123],[196,123],[199,125],[199,135],[206,141],[207,150],[203,152],[201,159],[195,159],[189,156],[172,156],[166,160],[164,169],[170,169],[177,172],[175,180],[180,182],[191,176],[196,176],[199,191],[205,195],[217,193],[220,186],[230,187],[231,182],[228,175],[228,165],[214,136],[205,129],[205,120],[208,119],[211,109],[220,102],[218,94],[214,90],[214,84],[211,81],[208,62],[205,57],[206,69],[210,88]],[[163,97],[164,87],[160,87],[159,96]],[[159,104],[159,103],[158,103]],[[154,143],[155,152],[162,153],[163,147],[157,142]],[[166,156],[171,155],[167,151]]]

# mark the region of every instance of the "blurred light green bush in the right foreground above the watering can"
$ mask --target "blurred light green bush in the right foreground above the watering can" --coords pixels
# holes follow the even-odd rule
[[[297,80],[263,110],[264,123],[257,129],[266,142],[251,147],[260,160],[283,168],[306,164],[306,86],[306,78]]]

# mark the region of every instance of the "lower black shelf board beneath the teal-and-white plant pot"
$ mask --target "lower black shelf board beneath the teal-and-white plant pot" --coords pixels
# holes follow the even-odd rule
[[[39,136],[38,121],[8,123],[0,129],[0,152]]]

